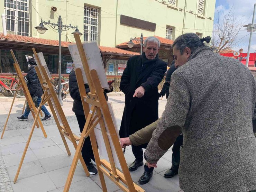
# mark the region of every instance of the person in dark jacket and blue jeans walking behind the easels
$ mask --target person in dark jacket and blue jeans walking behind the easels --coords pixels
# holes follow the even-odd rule
[[[35,67],[36,67],[35,59],[34,58],[29,58],[29,60],[28,60],[28,73],[27,73],[25,79],[28,82],[27,86],[28,86],[29,93],[32,97],[32,100],[33,100],[35,106],[39,107],[39,104],[42,101],[41,97],[43,95],[43,89],[42,89],[42,86],[41,86],[40,81],[38,79],[38,76],[36,74]],[[44,120],[51,119],[52,116],[44,105],[42,106],[41,109],[45,114],[45,117],[42,120],[44,121]],[[28,107],[28,103],[27,103],[25,113],[21,117],[17,117],[17,118],[21,121],[27,121],[29,113],[30,113],[30,108]]]

